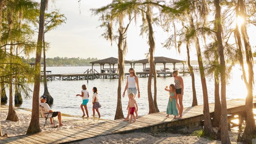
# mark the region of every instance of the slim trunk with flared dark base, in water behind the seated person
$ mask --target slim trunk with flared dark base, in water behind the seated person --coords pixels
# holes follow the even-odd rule
[[[48,91],[48,86],[47,86],[47,77],[46,77],[46,62],[45,62],[45,41],[43,38],[43,51],[44,51],[44,96],[47,97],[47,104],[53,104],[53,98],[50,95],[49,91]]]

